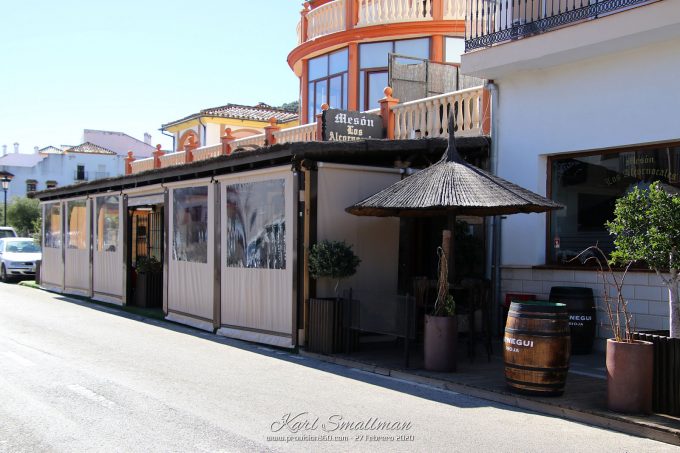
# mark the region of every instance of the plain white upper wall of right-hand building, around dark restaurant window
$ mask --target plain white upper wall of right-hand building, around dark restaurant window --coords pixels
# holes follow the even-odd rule
[[[499,176],[545,194],[547,155],[680,140],[680,39],[497,80]],[[505,265],[545,263],[545,215],[503,221]]]

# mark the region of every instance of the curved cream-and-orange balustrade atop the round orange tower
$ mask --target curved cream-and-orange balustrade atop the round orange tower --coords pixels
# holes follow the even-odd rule
[[[466,0],[334,0],[303,11],[298,44],[345,30],[400,22],[465,20]]]

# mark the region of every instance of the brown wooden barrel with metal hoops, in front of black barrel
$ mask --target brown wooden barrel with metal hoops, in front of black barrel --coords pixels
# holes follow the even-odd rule
[[[513,391],[542,396],[564,392],[571,355],[565,304],[512,302],[503,343],[505,380]]]

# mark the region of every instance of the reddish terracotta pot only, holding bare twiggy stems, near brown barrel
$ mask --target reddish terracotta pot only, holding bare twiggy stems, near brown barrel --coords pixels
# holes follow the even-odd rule
[[[607,340],[607,407],[616,412],[650,414],[654,345]]]

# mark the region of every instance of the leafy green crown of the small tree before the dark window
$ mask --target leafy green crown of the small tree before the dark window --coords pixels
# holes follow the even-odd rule
[[[680,267],[680,197],[665,192],[658,181],[618,199],[607,228],[615,236],[615,263],[645,261],[657,271]]]

